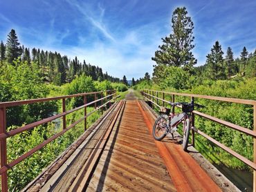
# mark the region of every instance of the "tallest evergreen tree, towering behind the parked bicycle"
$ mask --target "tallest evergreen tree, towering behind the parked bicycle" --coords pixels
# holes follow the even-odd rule
[[[162,65],[192,70],[192,66],[196,64],[191,51],[194,48],[193,28],[194,24],[191,17],[188,17],[186,8],[176,8],[172,15],[173,32],[169,37],[162,38],[163,45],[158,47],[160,50],[156,50],[155,57],[152,57],[152,60],[156,61],[153,73],[155,77],[160,75]]]

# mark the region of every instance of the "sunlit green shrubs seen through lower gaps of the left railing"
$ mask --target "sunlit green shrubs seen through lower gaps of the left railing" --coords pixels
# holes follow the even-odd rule
[[[93,108],[87,108],[87,111],[93,111]],[[67,116],[67,124],[82,118],[84,112],[82,110]],[[87,118],[87,127],[91,126],[96,119],[100,117],[100,112],[93,113]],[[32,131],[26,131],[7,140],[8,162],[17,159],[17,157],[30,151],[33,147],[41,144],[49,137],[62,131],[62,126],[56,127],[57,124],[51,123],[47,126],[38,126]],[[12,126],[8,130],[17,128]],[[53,142],[44,146],[26,160],[20,162],[8,171],[8,185],[10,191],[20,191],[31,180],[35,179],[42,170],[51,164],[55,158],[60,155],[68,146],[70,146],[84,132],[84,122],[77,124],[70,131],[58,137]]]

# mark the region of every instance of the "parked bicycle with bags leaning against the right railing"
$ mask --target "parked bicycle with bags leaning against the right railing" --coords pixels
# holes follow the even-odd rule
[[[187,151],[188,140],[190,136],[191,129],[191,113],[194,111],[194,107],[203,108],[204,106],[199,104],[194,104],[194,102],[176,102],[169,103],[172,106],[172,113],[170,108],[161,107],[161,115],[158,116],[156,122],[153,126],[153,137],[155,140],[163,140],[167,133],[171,133],[174,138],[173,133],[177,130],[177,126],[183,123],[183,150]],[[179,114],[174,114],[174,107],[181,106],[182,112]]]

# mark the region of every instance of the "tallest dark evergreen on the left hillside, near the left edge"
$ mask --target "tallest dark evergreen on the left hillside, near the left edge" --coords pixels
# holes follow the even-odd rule
[[[19,39],[14,29],[10,31],[6,43],[6,59],[11,64],[14,59],[21,56],[21,47],[19,47]]]

